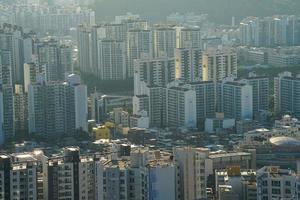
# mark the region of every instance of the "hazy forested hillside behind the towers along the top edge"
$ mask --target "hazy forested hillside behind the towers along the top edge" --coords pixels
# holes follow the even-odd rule
[[[232,16],[239,20],[250,15],[300,14],[300,0],[96,0],[95,4],[98,20],[126,12],[151,20],[164,20],[173,12],[207,13],[217,23],[230,23]]]

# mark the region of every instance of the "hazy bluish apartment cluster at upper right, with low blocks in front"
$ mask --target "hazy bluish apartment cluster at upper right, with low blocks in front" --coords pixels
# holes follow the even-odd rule
[[[241,62],[275,67],[297,66],[300,18],[295,15],[247,17],[238,26]]]

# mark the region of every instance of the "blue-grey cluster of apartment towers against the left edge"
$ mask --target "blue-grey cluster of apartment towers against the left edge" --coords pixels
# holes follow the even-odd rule
[[[72,74],[71,46],[10,24],[1,26],[0,41],[1,143],[86,131],[87,88]]]

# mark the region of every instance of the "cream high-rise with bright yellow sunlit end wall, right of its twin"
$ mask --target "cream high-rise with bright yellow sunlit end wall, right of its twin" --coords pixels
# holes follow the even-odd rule
[[[221,81],[233,76],[237,77],[237,53],[233,48],[213,48],[203,52],[203,81]]]

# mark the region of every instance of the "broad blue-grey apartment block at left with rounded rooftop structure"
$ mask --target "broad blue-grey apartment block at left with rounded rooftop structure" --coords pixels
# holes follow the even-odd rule
[[[44,137],[87,131],[87,87],[78,75],[67,82],[38,82],[28,89],[29,133]]]

